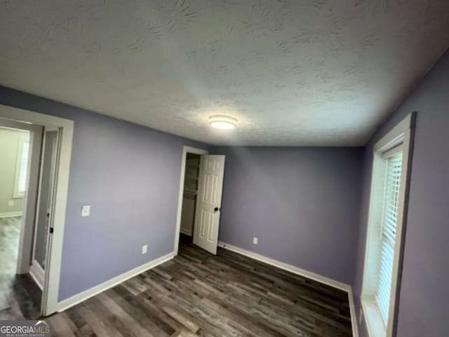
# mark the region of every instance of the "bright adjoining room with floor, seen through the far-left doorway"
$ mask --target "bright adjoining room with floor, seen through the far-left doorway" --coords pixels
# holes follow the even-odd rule
[[[18,274],[32,131],[0,121],[0,320],[35,319],[42,292],[28,273]]]

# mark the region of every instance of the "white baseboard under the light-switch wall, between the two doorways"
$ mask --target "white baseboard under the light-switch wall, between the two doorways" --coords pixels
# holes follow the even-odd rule
[[[160,265],[168,260],[171,260],[175,257],[175,252],[168,253],[167,255],[161,256],[160,258],[156,258],[156,260],[152,260],[149,263],[145,263],[145,265],[140,265],[129,272],[124,272],[123,274],[114,277],[113,279],[109,279],[102,284],[98,284],[97,286],[93,286],[91,289],[87,289],[81,293],[77,293],[76,295],[69,297],[65,300],[62,300],[58,303],[58,312],[67,310],[68,308],[73,307],[74,305],[87,300],[102,291],[112,288],[121,282],[125,282],[127,279],[135,277],[135,275],[139,275],[141,272],[145,272],[151,268],[156,267],[156,265]]]

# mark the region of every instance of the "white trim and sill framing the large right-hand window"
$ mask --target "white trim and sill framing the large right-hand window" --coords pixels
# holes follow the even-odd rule
[[[410,162],[413,152],[413,133],[415,128],[416,114],[413,112],[405,119],[398,123],[387,135],[379,140],[374,146],[373,153],[373,171],[371,180],[370,192],[370,211],[368,215],[368,230],[366,234],[366,250],[365,250],[365,266],[363,270],[363,287],[362,287],[362,308],[363,316],[365,317],[366,328],[370,337],[392,337],[395,336],[396,318],[398,306],[399,288],[401,284],[402,274],[402,256],[403,244],[406,226],[406,216],[408,210],[408,191],[410,183]],[[373,230],[379,216],[380,200],[383,201],[383,188],[379,188],[376,182],[379,179],[384,179],[384,155],[398,145],[403,147],[403,169],[401,172],[401,189],[399,191],[398,200],[398,221],[396,227],[396,242],[394,246],[394,262],[393,273],[391,277],[391,296],[389,306],[389,317],[387,326],[384,325],[380,312],[375,305],[374,284],[372,277],[375,270],[373,270],[373,263],[369,263],[368,255],[371,251],[373,253]]]

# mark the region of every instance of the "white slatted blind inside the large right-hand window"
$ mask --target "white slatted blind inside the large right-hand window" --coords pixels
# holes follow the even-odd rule
[[[377,279],[376,302],[380,315],[387,325],[393,272],[394,246],[398,221],[399,184],[402,171],[402,152],[387,158],[382,228],[380,231],[379,276]]]

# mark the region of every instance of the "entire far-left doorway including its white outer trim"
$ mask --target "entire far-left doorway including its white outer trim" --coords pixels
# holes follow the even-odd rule
[[[13,210],[0,217],[0,319],[37,319],[60,308],[73,127],[68,119],[0,105],[1,153],[16,151],[6,131],[21,135],[15,172],[0,177],[0,205],[6,191],[6,204]],[[8,165],[0,161],[0,171],[6,172]]]

